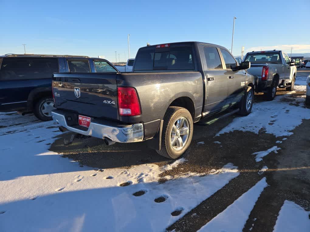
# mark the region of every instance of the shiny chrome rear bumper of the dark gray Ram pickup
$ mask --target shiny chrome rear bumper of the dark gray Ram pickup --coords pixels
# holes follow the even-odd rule
[[[68,126],[65,116],[61,114],[59,110],[52,111],[52,118],[61,126],[66,127],[69,131],[73,131],[82,135],[88,135],[100,139],[104,139],[106,137],[118,143],[132,143],[140,142],[143,140],[144,132],[142,123],[114,127],[103,125],[96,120],[92,120],[88,130],[84,131]]]

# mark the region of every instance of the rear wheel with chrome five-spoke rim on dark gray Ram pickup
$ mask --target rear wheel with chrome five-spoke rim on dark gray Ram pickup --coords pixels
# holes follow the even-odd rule
[[[161,150],[158,154],[170,159],[180,157],[192,141],[193,118],[182,107],[170,106],[164,117]]]

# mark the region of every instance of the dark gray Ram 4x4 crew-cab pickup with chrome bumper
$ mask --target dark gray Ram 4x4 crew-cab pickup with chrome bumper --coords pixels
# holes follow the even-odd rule
[[[148,140],[157,153],[174,159],[188,148],[193,122],[230,108],[250,114],[249,67],[214,44],[143,47],[130,73],[55,73],[52,117],[108,145]]]

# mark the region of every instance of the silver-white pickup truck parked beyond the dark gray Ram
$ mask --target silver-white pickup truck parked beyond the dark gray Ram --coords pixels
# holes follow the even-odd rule
[[[253,51],[243,61],[251,62],[248,72],[256,77],[255,92],[263,92],[268,100],[274,99],[277,87],[294,90],[296,66],[283,51]]]

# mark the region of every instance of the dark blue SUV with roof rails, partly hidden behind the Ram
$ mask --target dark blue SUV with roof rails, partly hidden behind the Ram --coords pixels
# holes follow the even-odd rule
[[[6,54],[0,56],[0,112],[33,112],[51,120],[54,108],[51,77],[58,72],[109,72],[107,60],[88,56]]]

